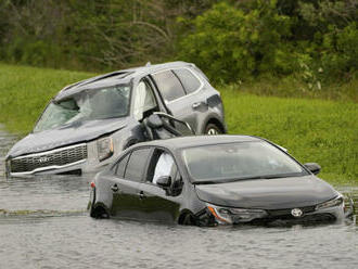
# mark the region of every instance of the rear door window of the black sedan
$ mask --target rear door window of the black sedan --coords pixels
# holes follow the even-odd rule
[[[150,157],[151,149],[139,149],[132,151],[129,162],[125,171],[125,179],[132,181],[141,181],[144,169],[146,168],[146,161]]]

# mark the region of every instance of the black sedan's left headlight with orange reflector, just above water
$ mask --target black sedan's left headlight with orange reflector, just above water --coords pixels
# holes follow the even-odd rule
[[[207,204],[206,206],[219,223],[233,225],[239,222],[248,222],[253,219],[267,216],[266,210],[263,209],[219,207],[210,204]]]

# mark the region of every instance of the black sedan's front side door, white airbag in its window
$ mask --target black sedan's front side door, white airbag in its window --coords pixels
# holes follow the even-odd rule
[[[167,185],[161,185],[166,181]],[[162,180],[162,182],[159,182]],[[170,153],[156,149],[150,159],[146,177],[139,183],[141,218],[175,222],[179,215],[182,181]]]

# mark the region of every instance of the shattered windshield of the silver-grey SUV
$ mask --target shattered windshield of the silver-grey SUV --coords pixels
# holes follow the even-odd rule
[[[123,117],[128,114],[130,86],[119,85],[81,91],[51,102],[34,128],[39,132],[74,121]]]

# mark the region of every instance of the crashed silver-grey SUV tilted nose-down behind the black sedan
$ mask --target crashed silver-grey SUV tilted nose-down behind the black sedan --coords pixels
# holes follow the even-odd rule
[[[98,171],[146,140],[141,123],[155,112],[189,123],[196,133],[227,130],[220,94],[195,65],[146,65],[61,90],[8,153],[7,174]]]

